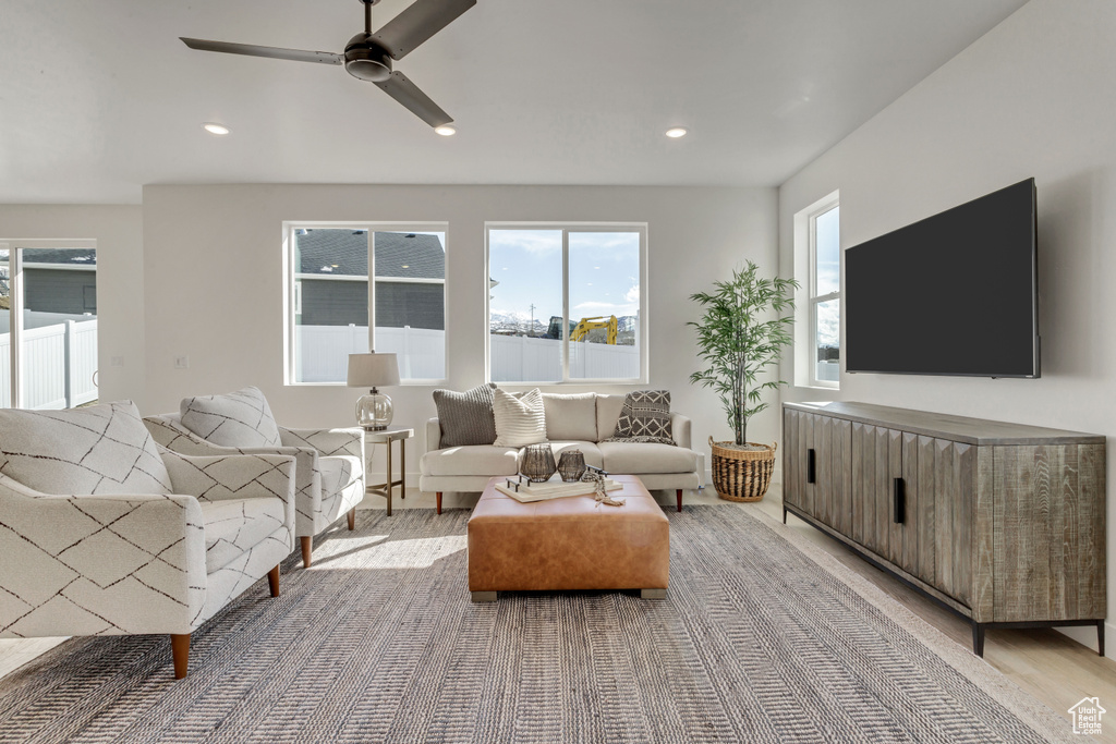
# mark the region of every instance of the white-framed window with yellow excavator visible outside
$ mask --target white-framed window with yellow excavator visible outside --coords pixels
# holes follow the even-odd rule
[[[646,225],[489,224],[489,379],[646,381]]]

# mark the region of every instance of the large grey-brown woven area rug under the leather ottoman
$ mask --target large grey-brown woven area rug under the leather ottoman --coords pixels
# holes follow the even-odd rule
[[[1041,742],[1069,724],[754,509],[668,512],[663,601],[472,605],[468,511],[360,512],[194,635],[0,679],[0,741]]]

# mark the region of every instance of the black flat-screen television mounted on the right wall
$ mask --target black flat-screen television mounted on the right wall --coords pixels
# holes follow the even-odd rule
[[[845,251],[850,373],[1039,376],[1035,180]]]

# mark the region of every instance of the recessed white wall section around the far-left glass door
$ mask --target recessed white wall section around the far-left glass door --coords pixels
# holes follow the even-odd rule
[[[144,407],[143,210],[126,205],[0,204],[0,239],[97,241],[99,398]],[[123,366],[112,366],[119,357]]]

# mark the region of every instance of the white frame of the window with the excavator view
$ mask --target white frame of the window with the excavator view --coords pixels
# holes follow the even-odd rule
[[[648,349],[651,338],[647,322],[647,223],[646,222],[485,222],[484,223],[484,379],[492,381],[492,296],[489,280],[492,277],[490,235],[493,230],[538,230],[561,232],[562,332],[560,380],[500,380],[498,385],[539,387],[543,385],[647,385]],[[639,375],[632,378],[589,378],[569,376],[569,235],[570,233],[634,232],[639,235]]]

